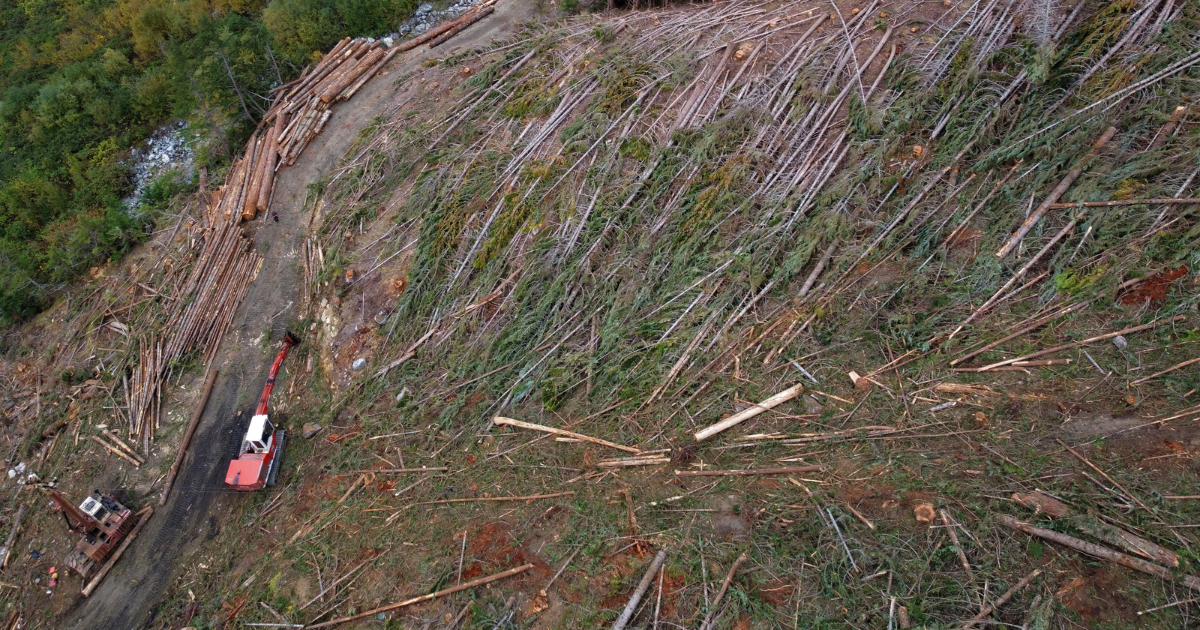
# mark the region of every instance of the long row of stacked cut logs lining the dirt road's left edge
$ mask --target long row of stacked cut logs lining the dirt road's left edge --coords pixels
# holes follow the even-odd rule
[[[216,356],[221,337],[233,324],[238,306],[258,275],[263,258],[239,226],[265,212],[275,192],[275,174],[292,166],[329,121],[330,107],[355,95],[397,53],[428,42],[433,48],[467,26],[490,16],[488,0],[415,37],[388,49],[365,37],[344,38],[316,67],[296,80],[275,89],[270,110],[246,143],[246,151],[229,170],[226,182],[212,194],[204,215],[203,245],[182,289],[186,306],[175,311],[158,337],[142,338],[138,365],[125,382],[130,438],[149,454],[162,413],[162,385],[169,367],[200,349],[204,362]],[[306,246],[306,280],[319,248]],[[308,286],[308,282],[305,283]]]

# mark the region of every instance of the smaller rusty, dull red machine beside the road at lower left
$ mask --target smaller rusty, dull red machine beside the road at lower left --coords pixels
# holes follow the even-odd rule
[[[88,497],[78,508],[58,491],[50,492],[54,509],[62,512],[67,528],[83,538],[66,557],[67,566],[83,577],[104,562],[121,540],[133,529],[137,518],[115,498],[101,494]]]

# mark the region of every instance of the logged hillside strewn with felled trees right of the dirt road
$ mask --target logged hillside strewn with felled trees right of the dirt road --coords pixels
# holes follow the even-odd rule
[[[1188,624],[1170,570],[1004,518],[1200,572],[1196,32],[1171,0],[732,0],[395,72],[290,188],[270,325],[322,428],[162,610],[610,626],[665,551],[636,626]]]

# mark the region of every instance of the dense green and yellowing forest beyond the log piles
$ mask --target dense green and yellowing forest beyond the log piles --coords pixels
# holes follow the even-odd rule
[[[0,325],[152,232],[194,176],[162,176],[138,208],[130,151],[188,122],[196,166],[220,170],[271,88],[346,35],[377,36],[416,0],[16,0],[0,4]]]

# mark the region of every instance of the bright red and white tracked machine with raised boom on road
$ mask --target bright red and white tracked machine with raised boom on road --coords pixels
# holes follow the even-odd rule
[[[283,457],[286,436],[282,430],[276,430],[275,425],[271,424],[266,402],[271,397],[275,377],[280,373],[283,359],[287,358],[288,350],[299,344],[300,340],[292,332],[283,336],[283,348],[275,356],[271,371],[266,374],[266,385],[263,388],[263,395],[258,398],[258,407],[254,408],[254,415],[250,419],[246,434],[241,438],[238,456],[229,462],[229,469],[226,472],[226,485],[234,490],[253,491],[275,485]]]

